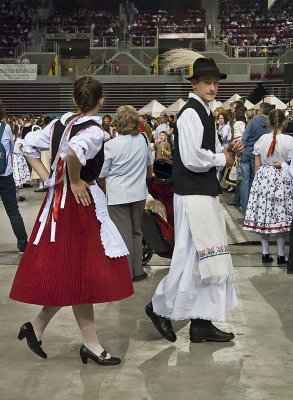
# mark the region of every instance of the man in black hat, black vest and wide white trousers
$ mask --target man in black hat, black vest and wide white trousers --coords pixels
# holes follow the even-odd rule
[[[174,129],[175,247],[169,274],[145,308],[159,333],[171,342],[176,340],[171,320],[185,319],[191,321],[193,343],[234,338],[212,324],[224,321],[225,313],[237,306],[217,170],[232,166],[233,152],[243,146],[234,141],[221,147],[208,106],[219,80],[225,78],[214,60],[198,58],[188,78],[193,92]]]

